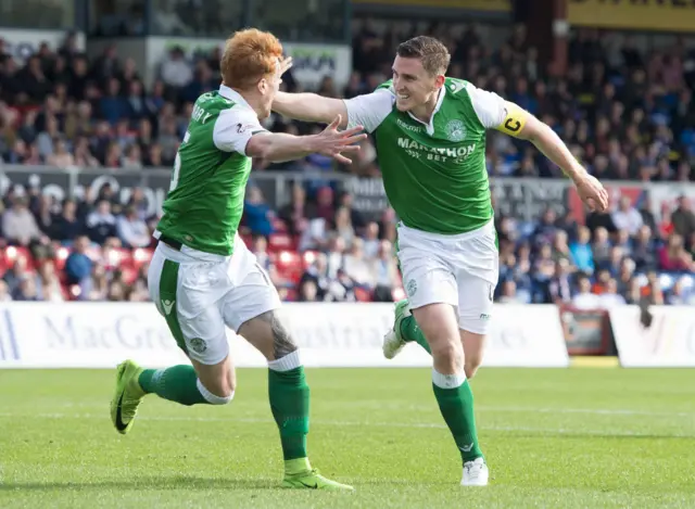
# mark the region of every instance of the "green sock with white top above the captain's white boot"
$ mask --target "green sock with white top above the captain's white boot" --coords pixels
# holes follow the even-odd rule
[[[476,432],[473,393],[468,380],[464,374],[441,374],[432,371],[432,387],[442,417],[454,436],[464,462],[482,457]]]

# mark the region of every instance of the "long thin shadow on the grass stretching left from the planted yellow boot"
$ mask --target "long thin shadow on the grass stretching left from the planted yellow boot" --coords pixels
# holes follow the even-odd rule
[[[85,482],[48,482],[48,483],[2,483],[0,482],[0,492],[11,491],[45,491],[45,489],[103,489],[103,488],[121,488],[121,489],[280,489],[279,481],[263,481],[253,479],[208,479],[195,478],[190,475],[177,475],[173,478],[137,478],[132,480],[119,481],[97,481],[93,483]]]

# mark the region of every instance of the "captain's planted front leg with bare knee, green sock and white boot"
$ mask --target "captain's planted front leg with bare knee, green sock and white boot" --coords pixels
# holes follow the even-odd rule
[[[462,484],[488,484],[488,467],[476,431],[473,394],[466,379],[458,319],[448,304],[429,304],[412,310],[432,354],[432,389],[464,463]]]

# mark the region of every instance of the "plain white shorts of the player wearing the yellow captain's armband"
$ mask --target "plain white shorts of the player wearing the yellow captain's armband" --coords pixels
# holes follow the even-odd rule
[[[410,308],[444,303],[457,308],[458,327],[486,334],[497,285],[494,222],[458,236],[400,225],[397,256]]]

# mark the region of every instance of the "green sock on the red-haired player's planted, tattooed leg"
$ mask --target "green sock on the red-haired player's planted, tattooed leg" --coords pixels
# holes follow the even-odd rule
[[[286,470],[294,470],[293,467],[300,463],[308,465],[308,461],[290,461],[307,457],[309,390],[304,378],[304,367],[287,371],[268,369],[268,397],[273,417],[280,430]]]

